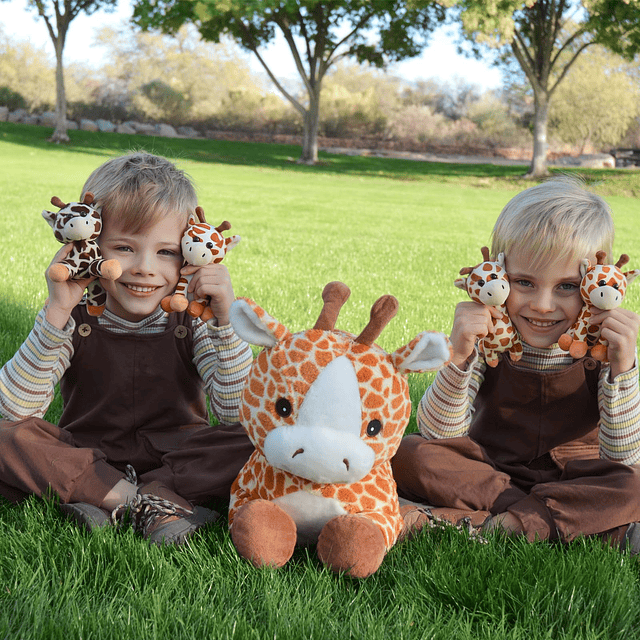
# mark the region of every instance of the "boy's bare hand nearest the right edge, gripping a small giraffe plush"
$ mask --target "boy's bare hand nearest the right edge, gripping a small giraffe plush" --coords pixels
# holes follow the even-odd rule
[[[640,316],[628,309],[593,309],[592,321],[600,325],[600,337],[609,343],[607,356],[611,366],[611,380],[633,369],[636,362]]]

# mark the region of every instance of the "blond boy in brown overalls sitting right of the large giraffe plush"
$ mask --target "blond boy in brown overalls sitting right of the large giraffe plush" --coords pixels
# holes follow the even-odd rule
[[[420,435],[405,437],[393,460],[401,497],[435,507],[405,508],[413,526],[469,517],[529,540],[597,535],[640,552],[640,317],[595,314],[606,363],[574,360],[557,344],[582,309],[581,260],[611,257],[613,238],[608,205],[575,180],[544,182],[505,206],[491,253],[505,256],[523,357],[487,367],[476,343],[490,312],[457,305],[452,360],[420,402]]]

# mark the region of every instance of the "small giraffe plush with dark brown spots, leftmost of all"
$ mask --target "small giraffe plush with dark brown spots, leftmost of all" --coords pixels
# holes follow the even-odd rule
[[[62,244],[72,243],[73,249],[64,260],[49,267],[49,278],[54,282],[81,280],[88,276],[117,280],[122,275],[120,263],[115,259],[105,260],[96,242],[102,231],[102,215],[100,208],[93,206],[93,194],[85,193],[82,202],[68,204],[54,196],[51,204],[60,211],[45,209],[42,217],[53,229],[56,240]],[[93,316],[101,315],[105,298],[99,282],[91,282],[85,295],[87,312]]]

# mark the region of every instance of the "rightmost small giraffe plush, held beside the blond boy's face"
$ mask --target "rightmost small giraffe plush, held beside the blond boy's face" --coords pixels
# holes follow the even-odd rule
[[[604,251],[598,251],[596,264],[592,265],[586,258],[580,264],[580,295],[584,305],[575,324],[558,340],[558,346],[574,358],[582,358],[591,349],[595,360],[608,360],[607,342],[600,337],[601,327],[591,323],[593,309],[619,307],[627,286],[640,273],[640,269],[622,272],[621,267],[629,262],[629,256],[624,253],[616,264],[605,264],[606,258]]]

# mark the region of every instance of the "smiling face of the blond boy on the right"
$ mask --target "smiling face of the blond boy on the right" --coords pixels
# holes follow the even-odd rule
[[[557,257],[533,270],[527,258],[518,252],[506,257],[511,285],[507,313],[524,342],[547,348],[558,342],[582,309],[580,262]]]

